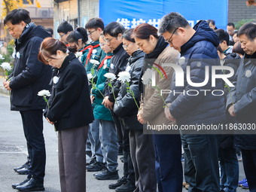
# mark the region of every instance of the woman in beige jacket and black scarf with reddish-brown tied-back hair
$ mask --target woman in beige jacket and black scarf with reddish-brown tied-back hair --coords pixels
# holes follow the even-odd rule
[[[160,90],[169,90],[172,83],[172,74],[174,70],[171,67],[162,66],[163,63],[175,63],[178,51],[168,44],[163,37],[157,35],[157,29],[148,23],[142,23],[133,31],[136,44],[145,52],[144,70],[142,71],[139,88],[144,91],[143,106],[137,115],[140,123],[148,123],[151,126],[163,125],[171,126],[175,124],[172,120],[167,120],[163,111],[165,103],[160,96]],[[162,70],[160,69],[163,69]],[[146,70],[155,73],[155,84],[142,88],[142,77]],[[163,74],[155,69],[159,69]],[[150,73],[149,73],[150,74]],[[145,76],[143,77],[145,80]],[[160,89],[160,90],[159,90]],[[157,174],[157,183],[159,191],[181,191],[182,190],[182,166],[181,166],[181,139],[178,134],[165,134],[165,131],[159,132],[153,130],[155,165]],[[162,134],[161,134],[162,133]]]

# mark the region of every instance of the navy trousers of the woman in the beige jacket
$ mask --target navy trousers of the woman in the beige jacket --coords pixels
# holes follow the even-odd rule
[[[181,192],[183,179],[181,137],[153,132],[153,141],[158,190]]]

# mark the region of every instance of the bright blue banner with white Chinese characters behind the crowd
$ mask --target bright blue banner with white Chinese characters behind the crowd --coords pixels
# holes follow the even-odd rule
[[[105,26],[117,21],[126,29],[135,28],[140,23],[158,27],[165,14],[175,11],[183,15],[192,27],[199,20],[215,20],[218,29],[226,29],[227,5],[227,0],[99,0],[99,17]]]

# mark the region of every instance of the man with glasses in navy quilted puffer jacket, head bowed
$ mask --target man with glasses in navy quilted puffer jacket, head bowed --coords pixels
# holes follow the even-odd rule
[[[166,99],[166,118],[176,120],[181,128],[222,123],[225,120],[224,96],[199,93],[197,96],[187,93],[188,90],[222,90],[222,82],[217,81],[212,87],[212,78],[203,87],[192,86],[187,83],[187,72],[190,81],[201,83],[205,80],[206,66],[219,66],[218,36],[209,28],[206,21],[201,20],[192,28],[187,20],[178,13],[170,13],[162,18],[159,35],[169,42],[171,47],[181,53],[177,65],[183,69],[184,85],[176,86],[175,76],[172,76],[170,93]],[[190,71],[187,71],[187,67]],[[211,73],[209,76],[212,76]],[[186,93],[185,93],[186,92]],[[191,96],[192,95],[192,96]],[[209,133],[209,132],[206,132]],[[218,149],[220,135],[200,134],[180,130],[184,148],[184,176],[189,184],[188,191],[219,192],[220,178],[218,169]]]

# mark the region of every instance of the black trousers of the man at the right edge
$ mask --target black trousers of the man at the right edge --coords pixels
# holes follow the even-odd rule
[[[256,192],[256,150],[242,151],[242,164],[248,181],[250,192]]]

